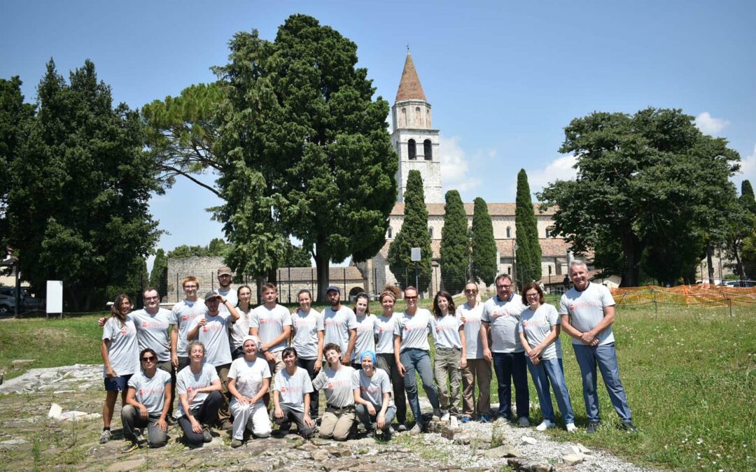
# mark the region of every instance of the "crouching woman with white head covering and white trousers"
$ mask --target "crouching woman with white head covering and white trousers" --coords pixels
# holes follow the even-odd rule
[[[228,370],[228,392],[233,397],[230,408],[234,415],[231,447],[243,444],[245,429],[256,437],[271,434],[271,419],[262,402],[271,384],[271,371],[268,362],[257,356],[261,345],[257,336],[246,336],[242,344],[244,356],[231,362]]]

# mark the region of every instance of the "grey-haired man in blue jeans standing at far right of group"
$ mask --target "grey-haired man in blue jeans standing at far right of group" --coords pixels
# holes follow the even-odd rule
[[[587,433],[595,433],[599,426],[599,394],[596,392],[596,364],[604,379],[609,399],[615,407],[622,428],[628,432],[638,430],[633,414],[627,406],[627,395],[619,380],[619,366],[615,351],[612,322],[615,318],[615,301],[609,288],[590,283],[588,268],[583,261],[569,264],[572,284],[559,302],[562,329],[572,336],[572,348],[578,359],[583,378],[583,399],[588,415]]]

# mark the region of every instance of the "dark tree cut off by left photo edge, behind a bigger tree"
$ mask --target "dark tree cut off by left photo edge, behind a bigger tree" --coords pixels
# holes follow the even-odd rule
[[[18,159],[34,106],[23,103],[21,80],[0,79],[0,258],[5,259],[8,246],[8,193],[11,191],[11,165]]]

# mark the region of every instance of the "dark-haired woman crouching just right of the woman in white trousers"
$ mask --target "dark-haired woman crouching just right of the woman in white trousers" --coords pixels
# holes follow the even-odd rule
[[[281,433],[288,433],[294,421],[296,430],[308,440],[315,431],[315,423],[310,418],[312,381],[306,369],[297,367],[295,348],[287,347],[281,357],[285,369],[278,371],[274,382],[274,421]]]

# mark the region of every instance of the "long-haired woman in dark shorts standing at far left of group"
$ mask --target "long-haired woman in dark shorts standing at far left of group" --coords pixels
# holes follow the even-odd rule
[[[113,307],[110,307],[110,318],[107,319],[102,330],[100,353],[104,363],[106,396],[102,410],[101,443],[110,441],[110,421],[113,421],[113,410],[116,408],[118,392],[121,393],[122,405],[125,405],[129,378],[139,369],[137,330],[134,320],[129,316],[131,310],[132,301],[129,295],[118,295],[113,302]]]

